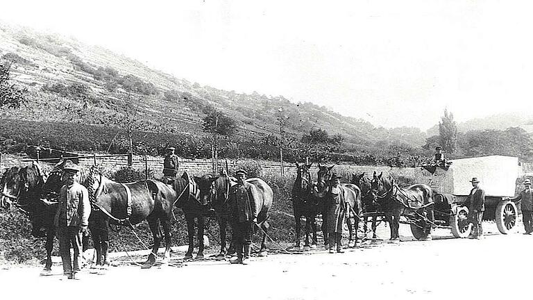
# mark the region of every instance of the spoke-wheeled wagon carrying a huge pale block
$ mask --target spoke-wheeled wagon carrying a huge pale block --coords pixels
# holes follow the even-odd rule
[[[473,177],[480,180],[480,188],[485,191],[484,220],[493,220],[498,231],[507,234],[516,225],[518,209],[512,201],[518,177],[518,158],[511,156],[483,156],[452,160],[448,170],[437,168],[434,174],[421,169],[415,176],[416,183],[430,185],[434,192],[434,224],[428,219],[418,218],[409,222],[414,238],[424,237],[424,228],[450,228],[456,238],[466,238],[470,234],[466,198],[472,189]]]

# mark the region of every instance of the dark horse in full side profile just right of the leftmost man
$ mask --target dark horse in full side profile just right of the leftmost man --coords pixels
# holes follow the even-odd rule
[[[157,258],[162,240],[160,224],[163,227],[164,241],[167,246],[164,251],[164,263],[169,262],[172,208],[179,199],[189,197],[185,190],[176,194],[176,191],[169,185],[154,180],[116,183],[105,178],[96,167],[91,169],[90,176],[87,178],[87,190],[89,190],[93,207],[90,227],[97,260],[101,260],[101,256],[104,262],[108,260],[106,238],[110,223],[133,226],[146,219],[153,235],[153,249],[144,267],[151,267]],[[98,230],[99,234],[95,235],[93,229]]]

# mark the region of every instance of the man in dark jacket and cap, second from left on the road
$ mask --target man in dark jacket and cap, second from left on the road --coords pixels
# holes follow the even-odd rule
[[[231,260],[230,263],[244,264],[244,260],[250,257],[253,224],[257,223],[257,207],[253,198],[254,187],[245,181],[246,171],[237,170],[235,177],[237,177],[237,184],[230,188],[228,200],[232,213],[237,259]]]

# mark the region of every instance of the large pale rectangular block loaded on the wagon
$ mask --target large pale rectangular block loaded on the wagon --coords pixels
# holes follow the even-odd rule
[[[425,183],[434,190],[455,195],[468,195],[473,177],[487,196],[514,196],[518,177],[518,158],[512,156],[482,156],[451,160],[448,171],[437,168],[434,174],[421,169],[416,183]]]

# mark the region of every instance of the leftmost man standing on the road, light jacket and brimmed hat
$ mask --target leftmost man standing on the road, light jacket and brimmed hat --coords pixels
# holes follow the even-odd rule
[[[71,162],[63,167],[65,185],[59,193],[58,210],[54,225],[58,230],[59,251],[63,261],[63,274],[69,279],[81,267],[82,237],[87,234],[91,205],[87,189],[77,182],[79,168]],[[74,248],[74,262],[70,247]]]

